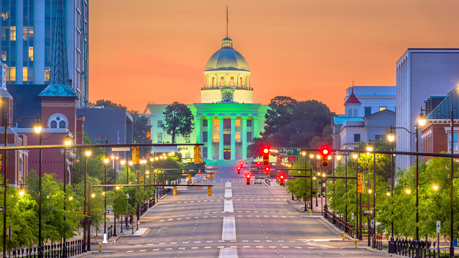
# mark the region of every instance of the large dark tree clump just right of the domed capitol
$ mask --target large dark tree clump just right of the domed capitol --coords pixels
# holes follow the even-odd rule
[[[248,147],[254,157],[261,157],[258,149],[264,144],[276,147],[307,147],[326,142],[331,145],[331,128],[327,128],[327,125],[336,114],[330,112],[324,103],[276,96],[269,103],[269,108],[265,115],[265,131],[260,134],[262,140],[253,138]]]

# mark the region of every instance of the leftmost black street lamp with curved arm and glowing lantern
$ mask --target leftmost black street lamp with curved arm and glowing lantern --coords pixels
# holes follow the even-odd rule
[[[21,120],[22,118],[37,118],[37,121],[35,123],[35,126],[34,126],[34,130],[35,130],[35,133],[39,134],[41,132],[41,125],[40,125],[40,116],[37,114],[36,117],[21,117],[19,119],[17,119],[14,123],[8,123],[8,114],[5,114],[4,115],[4,118],[3,118],[3,126],[5,127],[5,147],[8,146],[8,125],[11,125],[11,124],[15,124],[17,123],[19,120]],[[6,163],[7,163],[7,160],[8,160],[8,151],[5,151],[4,153],[4,156],[5,156],[5,167],[4,167],[4,174],[3,174],[3,257],[6,257],[6,184],[7,184],[7,181],[8,181],[8,177],[7,177],[7,170],[6,170]],[[41,167],[41,163],[40,163],[40,167]],[[41,180],[41,177],[40,177],[40,180]],[[40,189],[41,190],[41,189]],[[40,228],[41,228],[41,225],[40,225]],[[41,230],[39,230],[41,233]],[[41,236],[41,234],[39,234]],[[41,242],[40,242],[40,248],[41,248]]]

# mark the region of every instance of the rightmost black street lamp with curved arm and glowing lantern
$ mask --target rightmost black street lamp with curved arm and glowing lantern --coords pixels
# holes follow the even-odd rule
[[[423,109],[421,107],[421,112],[419,114],[419,119],[418,119],[418,124],[420,126],[424,126],[425,124],[425,117],[424,117],[424,111],[437,111],[439,112],[443,117],[445,118],[450,118],[451,119],[451,154],[454,153],[454,109],[455,107],[453,107],[453,103],[451,103],[451,112],[450,112],[450,116],[446,116],[444,115],[442,112],[440,112],[439,110],[437,109]],[[417,136],[417,135],[416,135]],[[450,208],[450,216],[451,216],[451,219],[450,219],[450,236],[449,236],[449,240],[450,240],[450,245],[449,245],[449,257],[453,258],[454,257],[454,246],[453,246],[453,213],[454,213],[454,208],[453,208],[453,185],[454,185],[454,158],[451,157],[451,174],[450,174],[450,187],[451,187],[451,191],[450,191],[450,205],[451,205],[451,208]],[[417,177],[416,177],[417,179]],[[416,204],[417,204],[417,198],[416,198]],[[417,211],[417,208],[416,208],[416,211]],[[417,215],[416,215],[416,219],[417,219]],[[416,227],[417,227],[417,224],[416,224]],[[416,232],[417,233],[417,232]]]

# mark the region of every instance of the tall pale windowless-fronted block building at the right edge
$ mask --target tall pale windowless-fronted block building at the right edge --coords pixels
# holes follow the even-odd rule
[[[459,49],[409,48],[396,63],[397,127],[414,132],[420,108],[431,95],[447,95],[459,84]],[[419,139],[421,134],[419,133]],[[415,151],[414,135],[396,131],[397,151]],[[422,150],[422,142],[419,143]],[[397,155],[396,166],[414,165],[414,156]]]

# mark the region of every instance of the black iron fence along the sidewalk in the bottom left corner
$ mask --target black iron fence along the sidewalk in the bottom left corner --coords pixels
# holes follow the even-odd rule
[[[12,258],[60,258],[62,256],[72,257],[81,254],[83,250],[83,241],[81,239],[66,241],[64,243],[55,243],[40,247],[22,247],[11,249],[9,257]]]

